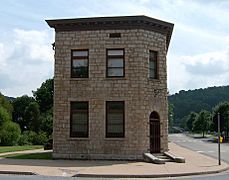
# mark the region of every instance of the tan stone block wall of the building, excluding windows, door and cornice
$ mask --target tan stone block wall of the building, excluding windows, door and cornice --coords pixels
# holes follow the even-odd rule
[[[121,33],[121,38],[109,38]],[[149,115],[161,122],[168,149],[166,36],[147,30],[56,32],[54,158],[141,159],[148,152]],[[125,77],[106,77],[106,49],[125,49]],[[71,78],[71,49],[89,49],[89,78]],[[158,51],[159,79],[149,79],[149,50]],[[89,102],[89,138],[70,138],[70,102]],[[125,138],[105,138],[106,101],[125,101]]]

